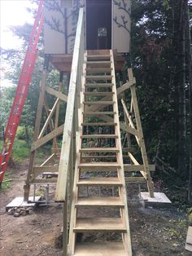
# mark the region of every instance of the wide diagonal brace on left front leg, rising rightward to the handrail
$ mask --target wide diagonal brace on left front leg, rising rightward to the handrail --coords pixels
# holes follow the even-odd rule
[[[37,148],[40,148],[42,145],[50,141],[50,139],[54,139],[56,136],[63,134],[64,125],[59,126],[55,130],[51,131],[48,135],[45,135],[41,139],[37,139],[37,141],[33,142],[31,151],[33,152]]]

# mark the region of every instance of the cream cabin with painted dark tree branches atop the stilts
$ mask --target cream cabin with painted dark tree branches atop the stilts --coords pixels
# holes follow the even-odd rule
[[[112,49],[120,70],[130,48],[130,0],[47,1],[45,54],[59,71],[71,71],[79,7],[85,8],[85,49],[103,55]]]

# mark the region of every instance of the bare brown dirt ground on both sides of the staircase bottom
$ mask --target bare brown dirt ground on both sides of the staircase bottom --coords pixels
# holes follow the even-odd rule
[[[23,196],[26,170],[26,164],[15,166],[11,179],[17,181],[0,194],[0,255],[62,255],[59,237],[63,205],[52,202],[49,206],[37,207],[33,214],[19,218],[6,213],[6,205],[15,196]],[[54,191],[50,189],[50,199],[53,199],[53,196]],[[129,196],[129,199],[134,198],[133,195]],[[129,219],[133,255],[192,255],[184,248],[187,219],[185,213],[177,208],[143,209],[136,201],[132,201],[129,202]]]

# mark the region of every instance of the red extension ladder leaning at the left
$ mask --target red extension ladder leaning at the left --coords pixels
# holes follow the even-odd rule
[[[24,101],[28,93],[28,86],[31,82],[31,77],[37,57],[37,43],[41,34],[43,24],[43,0],[40,0],[37,16],[33,24],[32,33],[28,42],[28,50],[25,55],[24,64],[20,73],[20,79],[15,92],[15,99],[11,107],[11,113],[7,123],[7,129],[4,134],[4,144],[2,152],[0,152],[0,184],[7,169],[7,163],[11,154],[11,149],[14,143],[17,127],[20,123],[21,113],[24,108]]]

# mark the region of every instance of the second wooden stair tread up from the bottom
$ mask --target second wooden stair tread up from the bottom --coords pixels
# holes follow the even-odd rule
[[[121,218],[77,218],[74,232],[126,232]]]

